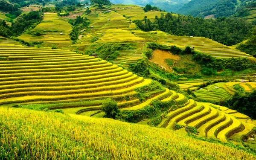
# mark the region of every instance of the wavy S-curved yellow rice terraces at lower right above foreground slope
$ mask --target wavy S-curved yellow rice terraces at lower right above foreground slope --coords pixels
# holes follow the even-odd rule
[[[253,131],[254,125],[239,120],[246,118],[248,117],[234,110],[189,99],[185,107],[169,111],[157,127],[175,129],[177,123],[195,127],[202,137],[228,142],[233,135],[241,140],[244,135]]]

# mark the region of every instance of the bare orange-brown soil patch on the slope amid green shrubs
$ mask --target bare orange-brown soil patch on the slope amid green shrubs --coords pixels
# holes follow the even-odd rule
[[[173,72],[172,67],[168,66],[168,64],[165,62],[165,59],[174,59],[175,61],[177,61],[178,59],[180,59],[180,56],[172,55],[172,53],[162,50],[155,50],[153,52],[153,58],[149,61],[158,64],[160,67],[168,70],[169,72]]]

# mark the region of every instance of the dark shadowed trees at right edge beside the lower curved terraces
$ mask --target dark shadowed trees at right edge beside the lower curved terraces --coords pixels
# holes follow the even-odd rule
[[[256,119],[256,90],[248,93],[239,85],[236,85],[235,89],[237,89],[236,93],[229,100],[224,102],[224,105]]]

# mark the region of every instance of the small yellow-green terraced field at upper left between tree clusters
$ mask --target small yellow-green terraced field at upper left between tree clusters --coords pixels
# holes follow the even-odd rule
[[[68,23],[67,20],[58,17],[56,13],[50,13],[44,15],[44,20],[30,31],[30,35],[24,34],[18,38],[25,41],[47,42],[49,43],[49,46],[57,44],[60,47],[66,47],[71,44],[69,35],[71,30],[71,24]],[[43,35],[32,35],[32,33],[35,32],[41,32]],[[61,33],[63,35],[61,35]]]

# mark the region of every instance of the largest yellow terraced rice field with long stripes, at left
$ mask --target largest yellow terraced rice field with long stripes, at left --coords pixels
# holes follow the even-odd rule
[[[151,80],[69,50],[23,47],[2,38],[0,57],[6,58],[0,61],[0,105],[40,104],[83,113],[100,110],[102,101],[111,97],[120,108],[133,110],[133,106],[144,106],[172,94],[166,88],[141,103],[134,89],[150,84]]]

